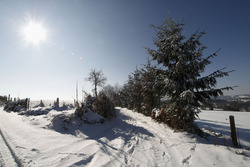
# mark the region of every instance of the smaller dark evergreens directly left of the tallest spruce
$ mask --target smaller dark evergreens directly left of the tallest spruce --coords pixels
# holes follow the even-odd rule
[[[156,66],[148,61],[144,68],[136,69],[129,75],[120,93],[122,107],[147,116],[151,115],[154,108],[160,107],[163,85],[156,72]]]

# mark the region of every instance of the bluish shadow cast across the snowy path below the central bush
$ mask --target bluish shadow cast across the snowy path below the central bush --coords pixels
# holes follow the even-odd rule
[[[140,136],[144,139],[148,137],[154,137],[152,133],[146,130],[143,127],[136,126],[136,120],[130,116],[124,115],[120,112],[119,109],[116,109],[116,117],[111,120],[105,121],[103,124],[85,124],[83,123],[81,126],[78,124],[71,123],[67,126],[67,130],[64,130],[62,127],[55,126],[53,129],[62,134],[71,134],[79,138],[83,138],[84,140],[94,140],[102,147],[100,150],[105,152],[107,155],[113,157],[116,161],[119,161],[120,164],[124,164],[121,162],[121,159],[129,155],[123,148],[116,148],[116,146],[109,144],[112,140],[121,139],[122,146],[125,146],[129,143],[129,141],[133,140],[133,137]],[[121,159],[118,159],[118,157]],[[76,162],[74,165],[86,165],[91,162],[93,156]],[[132,157],[133,158],[133,157]],[[137,159],[137,161],[140,161]],[[145,162],[140,163],[144,164]]]

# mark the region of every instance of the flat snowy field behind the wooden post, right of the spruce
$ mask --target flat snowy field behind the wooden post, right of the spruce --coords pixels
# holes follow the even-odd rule
[[[239,145],[250,150],[250,112],[203,111],[196,123],[211,135],[210,144],[231,146],[230,115],[234,116]]]

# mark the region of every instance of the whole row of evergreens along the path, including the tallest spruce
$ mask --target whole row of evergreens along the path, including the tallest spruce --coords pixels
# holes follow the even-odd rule
[[[110,95],[116,105],[127,107],[168,124],[173,129],[194,131],[194,120],[202,105],[233,87],[217,88],[217,78],[228,76],[232,71],[222,68],[203,76],[205,67],[217,52],[204,56],[206,49],[200,39],[206,33],[196,31],[190,37],[183,33],[184,23],[169,17],[156,31],[153,42],[156,50],[146,48],[151,57],[147,64],[128,76],[119,92]],[[168,97],[164,105],[161,99]],[[158,109],[158,110],[155,110]],[[159,111],[157,113],[153,113]]]

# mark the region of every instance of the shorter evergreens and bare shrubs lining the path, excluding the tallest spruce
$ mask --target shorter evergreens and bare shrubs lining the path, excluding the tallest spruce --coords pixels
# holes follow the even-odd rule
[[[125,107],[146,116],[152,115],[155,108],[161,108],[165,103],[163,80],[157,75],[157,66],[148,60],[142,68],[136,68],[128,76],[123,86],[107,85],[102,91],[115,106]]]

